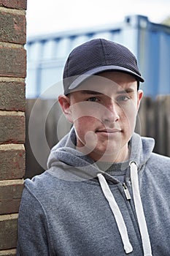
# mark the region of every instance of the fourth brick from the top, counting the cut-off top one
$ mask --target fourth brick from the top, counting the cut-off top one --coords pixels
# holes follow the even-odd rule
[[[0,82],[0,110],[26,110],[26,86],[21,82]]]

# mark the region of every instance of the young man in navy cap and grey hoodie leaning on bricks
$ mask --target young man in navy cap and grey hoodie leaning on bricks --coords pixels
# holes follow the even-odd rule
[[[123,45],[75,48],[58,100],[71,131],[25,181],[18,255],[169,255],[170,159],[134,133],[143,82]]]

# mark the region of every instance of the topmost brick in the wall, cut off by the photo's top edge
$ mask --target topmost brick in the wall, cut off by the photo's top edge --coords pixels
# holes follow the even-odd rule
[[[1,0],[0,6],[26,10],[27,0]]]

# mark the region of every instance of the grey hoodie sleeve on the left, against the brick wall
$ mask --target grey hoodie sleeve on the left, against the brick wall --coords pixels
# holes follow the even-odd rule
[[[39,200],[25,187],[18,217],[17,256],[48,256],[47,218]]]

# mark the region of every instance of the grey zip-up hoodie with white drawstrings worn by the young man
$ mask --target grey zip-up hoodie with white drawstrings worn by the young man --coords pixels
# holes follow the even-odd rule
[[[52,149],[48,170],[25,181],[17,255],[169,256],[170,159],[134,133],[130,160],[115,164],[115,175],[75,141],[72,129]]]

